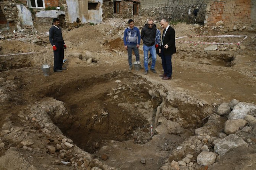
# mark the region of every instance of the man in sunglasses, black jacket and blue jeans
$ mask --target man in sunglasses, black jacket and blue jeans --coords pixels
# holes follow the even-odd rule
[[[141,39],[143,40],[143,52],[144,52],[144,68],[145,73],[148,74],[148,51],[152,54],[152,64],[150,70],[156,73],[156,25],[153,23],[152,19],[148,19],[148,24],[145,24],[141,31]]]

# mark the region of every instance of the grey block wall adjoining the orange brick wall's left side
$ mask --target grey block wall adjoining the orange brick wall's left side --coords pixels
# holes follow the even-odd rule
[[[156,20],[161,20],[164,18],[168,21],[176,20],[187,23],[204,23],[205,9],[207,5],[206,0],[181,0],[176,1],[177,3],[174,4],[165,4],[165,1],[163,0],[149,1],[152,1],[152,3],[144,4],[145,0],[140,2],[140,15],[146,15],[149,18],[154,18]],[[199,10],[197,12],[197,16],[193,14],[193,11],[196,9]]]

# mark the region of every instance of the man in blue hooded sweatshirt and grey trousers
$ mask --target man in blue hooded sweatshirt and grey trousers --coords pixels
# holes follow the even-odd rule
[[[136,56],[136,61],[140,61],[140,30],[134,26],[132,19],[129,19],[128,24],[129,27],[124,31],[124,48],[128,53],[129,70],[132,70],[132,50]]]

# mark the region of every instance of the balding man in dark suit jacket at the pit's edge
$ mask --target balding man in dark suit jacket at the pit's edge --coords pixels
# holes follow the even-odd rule
[[[163,80],[170,80],[172,79],[172,54],[176,53],[175,31],[165,19],[162,19],[160,24],[164,28],[161,47],[159,49],[164,74],[160,74],[159,76]]]

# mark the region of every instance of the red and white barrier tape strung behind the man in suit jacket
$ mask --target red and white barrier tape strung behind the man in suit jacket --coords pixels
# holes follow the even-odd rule
[[[247,39],[247,35],[189,35],[189,36],[183,36],[183,37],[178,37],[175,39],[182,39],[185,37],[244,37],[244,39],[242,41],[239,41],[238,43],[216,43],[216,42],[196,42],[196,41],[179,41],[181,43],[195,43],[195,45],[197,44],[216,44],[216,45],[232,45],[235,44],[237,46],[239,46],[245,39]]]

